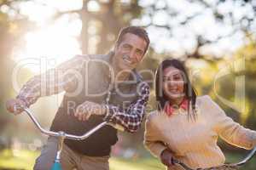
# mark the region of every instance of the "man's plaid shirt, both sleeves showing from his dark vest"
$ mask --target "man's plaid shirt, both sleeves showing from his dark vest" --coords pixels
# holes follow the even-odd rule
[[[20,89],[20,94],[18,94],[17,99],[22,99],[26,103],[26,106],[29,107],[40,97],[68,91],[77,80],[77,77],[75,77],[74,74],[68,75],[67,71],[72,70],[80,72],[83,69],[86,59],[89,59],[89,57],[86,58],[86,56],[78,55],[57,66],[55,69],[32,77],[32,79],[26,82]],[[108,105],[108,111],[104,120],[125,127],[127,132],[136,132],[143,122],[148,96],[148,83],[143,82],[139,88],[137,100],[133,101],[125,110],[114,105]]]

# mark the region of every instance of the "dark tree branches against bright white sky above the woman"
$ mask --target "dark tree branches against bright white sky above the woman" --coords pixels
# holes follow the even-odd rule
[[[178,51],[177,56],[183,59],[218,60],[224,53],[206,54],[205,51],[208,48],[220,48],[218,45],[227,39],[233,44],[236,44],[236,41],[244,43],[248,35],[255,34],[255,1],[141,2],[145,9],[143,17],[136,23],[147,27],[149,31],[162,32],[165,37],[155,37],[153,45],[159,47],[165,45],[161,42],[169,42],[169,47],[164,48],[162,52],[175,55]],[[174,46],[174,43],[177,45]]]

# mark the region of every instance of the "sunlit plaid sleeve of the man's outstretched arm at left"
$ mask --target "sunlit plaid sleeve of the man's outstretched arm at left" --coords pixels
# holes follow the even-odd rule
[[[77,55],[69,59],[55,69],[46,71],[44,74],[32,77],[20,89],[16,99],[20,99],[29,107],[38,98],[68,91],[77,81],[77,74],[81,71],[86,57]]]

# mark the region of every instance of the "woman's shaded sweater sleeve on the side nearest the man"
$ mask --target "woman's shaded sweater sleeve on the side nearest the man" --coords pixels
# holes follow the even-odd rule
[[[144,146],[150,151],[150,153],[153,156],[159,157],[163,150],[166,150],[167,146],[160,141],[158,138],[159,132],[156,128],[154,128],[154,125],[152,121],[150,120],[151,116],[147,117],[146,123],[145,123],[145,133],[144,133]]]

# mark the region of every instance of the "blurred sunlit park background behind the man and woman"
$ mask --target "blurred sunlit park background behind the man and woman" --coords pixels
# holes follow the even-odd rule
[[[0,169],[32,169],[46,140],[25,114],[9,114],[5,101],[30,77],[75,54],[108,53],[119,29],[131,25],[145,27],[151,40],[139,70],[183,60],[199,95],[211,95],[227,115],[256,130],[256,0],[0,0]],[[143,77],[152,87],[149,112],[154,75]],[[62,95],[32,105],[43,127]],[[112,170],[165,169],[143,148],[143,130],[119,134]],[[219,144],[230,162],[247,153]],[[243,169],[255,167],[253,158]]]

